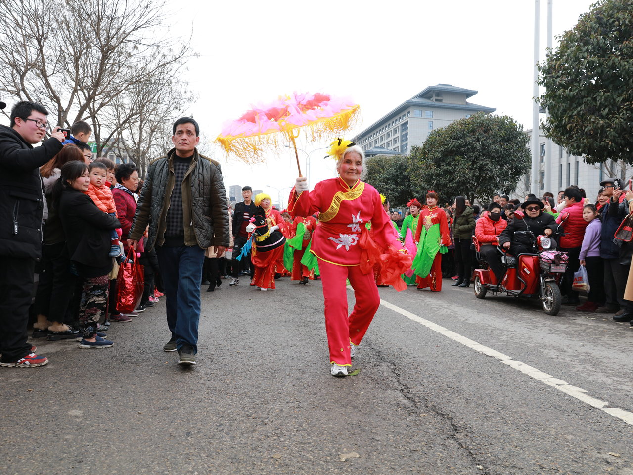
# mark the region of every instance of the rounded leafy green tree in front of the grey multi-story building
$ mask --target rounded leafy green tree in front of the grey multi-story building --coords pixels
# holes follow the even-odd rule
[[[480,112],[433,130],[411,149],[411,180],[435,191],[440,203],[460,195],[473,203],[498,191],[509,194],[530,169],[529,137],[522,129],[507,115]]]

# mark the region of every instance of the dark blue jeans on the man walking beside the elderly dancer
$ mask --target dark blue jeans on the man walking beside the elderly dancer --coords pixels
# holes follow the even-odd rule
[[[156,246],[156,255],[165,286],[167,325],[176,340],[176,348],[180,350],[182,345],[189,345],[197,353],[204,249]]]

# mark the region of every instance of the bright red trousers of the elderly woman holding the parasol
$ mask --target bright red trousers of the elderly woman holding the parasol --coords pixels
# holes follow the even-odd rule
[[[360,266],[335,265],[318,260],[325,298],[325,332],[330,348],[330,363],[351,366],[349,341],[358,345],[373,315],[380,307],[380,295],[373,272],[363,274]],[[441,275],[441,274],[440,274]],[[354,310],[348,316],[347,279],[354,289]]]

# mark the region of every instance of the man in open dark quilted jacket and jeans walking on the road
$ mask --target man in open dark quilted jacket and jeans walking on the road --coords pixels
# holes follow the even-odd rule
[[[174,148],[147,167],[129,236],[137,248],[149,225],[146,251],[156,248],[172,332],[163,350],[194,365],[204,251],[214,246],[221,254],[229,246],[230,218],[220,164],[197,153],[197,122],[179,118],[172,132]]]

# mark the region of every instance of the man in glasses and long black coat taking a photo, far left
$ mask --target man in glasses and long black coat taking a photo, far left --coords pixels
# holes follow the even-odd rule
[[[28,307],[35,261],[41,258],[44,193],[39,167],[62,148],[64,134],[47,131],[48,111],[19,102],[11,110],[11,126],[0,125],[0,366],[29,367],[48,360],[27,343]]]

